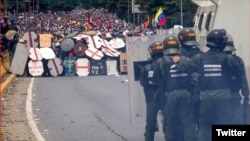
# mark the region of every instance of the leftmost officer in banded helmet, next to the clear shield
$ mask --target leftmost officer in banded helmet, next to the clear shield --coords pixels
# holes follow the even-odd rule
[[[153,84],[152,76],[154,73],[156,61],[163,56],[162,42],[153,42],[148,51],[150,53],[152,62],[145,65],[141,70],[140,84],[143,87],[146,102],[146,127],[145,127],[145,141],[154,141],[154,134],[158,131],[157,115],[161,110],[161,104],[153,100],[154,93],[158,87]]]

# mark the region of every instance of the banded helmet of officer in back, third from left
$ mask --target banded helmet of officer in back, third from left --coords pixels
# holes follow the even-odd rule
[[[178,33],[178,39],[182,45],[198,46],[196,41],[196,33],[192,28],[183,28]]]

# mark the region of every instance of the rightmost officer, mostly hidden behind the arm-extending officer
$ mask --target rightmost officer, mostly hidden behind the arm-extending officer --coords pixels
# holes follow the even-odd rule
[[[240,77],[232,77],[231,80],[231,92],[232,92],[232,116],[230,117],[232,124],[247,124],[247,108],[249,101],[249,87],[246,77],[245,65],[241,57],[237,56],[234,47],[233,37],[227,33],[227,45],[224,49],[224,52],[227,54],[232,54],[241,66]],[[241,94],[244,96],[243,107],[241,105]]]

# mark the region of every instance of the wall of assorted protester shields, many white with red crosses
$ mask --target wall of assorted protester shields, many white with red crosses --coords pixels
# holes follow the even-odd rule
[[[23,42],[17,44],[10,70],[18,75],[28,73],[36,77],[117,75],[119,49],[125,48],[125,42],[121,38],[103,39],[96,33],[74,32],[55,41],[50,34],[24,33]],[[126,60],[122,62],[125,72]]]

